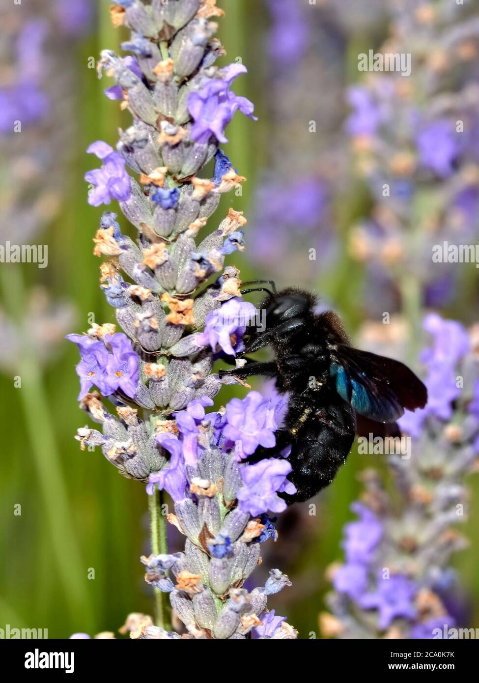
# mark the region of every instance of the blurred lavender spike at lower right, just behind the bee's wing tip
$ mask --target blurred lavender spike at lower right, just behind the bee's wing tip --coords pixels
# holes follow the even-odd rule
[[[353,505],[360,519],[344,528],[345,562],[331,568],[332,615],[323,615],[334,633],[325,635],[432,639],[463,618],[448,611],[455,589],[449,559],[465,546],[454,527],[463,520],[464,480],[479,453],[479,368],[474,331],[436,314],[426,316],[424,328],[433,336],[421,354],[430,402],[419,420],[400,421],[411,435],[411,457],[389,456],[398,501],[378,473],[364,476],[368,503]],[[458,376],[466,378],[462,389]]]

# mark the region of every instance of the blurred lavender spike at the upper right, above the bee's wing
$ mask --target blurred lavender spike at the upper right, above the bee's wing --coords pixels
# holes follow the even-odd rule
[[[407,280],[420,303],[453,301],[457,262],[435,252],[478,238],[479,25],[469,9],[446,1],[387,3],[392,37],[377,52],[409,55],[411,74],[359,72],[360,83],[348,90],[344,125],[372,202],[369,215],[351,225],[350,252],[366,264],[375,291],[383,271],[383,296],[392,294],[393,310]],[[368,304],[373,314],[384,310],[381,297]]]

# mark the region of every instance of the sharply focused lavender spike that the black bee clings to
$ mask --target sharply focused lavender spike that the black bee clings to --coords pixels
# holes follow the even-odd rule
[[[288,577],[272,570],[264,586],[245,587],[262,542],[276,538],[263,513],[283,510],[278,494],[294,490],[286,459],[242,462],[256,447],[275,445],[282,398],[251,392],[206,412],[223,382],[236,381],[213,371],[217,356],[243,350],[256,313],[241,298],[239,271],[224,267],[226,255],[243,249],[243,213],[230,209],[206,227],[221,195],[245,180],[219,152],[225,127],[238,109],[254,119],[253,104],[230,90],[245,67],[215,66],[223,53],[215,14],[223,14],[215,0],[118,0],[112,8],[114,25],[131,30],[122,48],[132,54],[103,51],[99,74],[113,77],[106,96],[131,113],[131,126],[115,150],[90,145],[102,167],[85,179],[94,186],[89,204],[118,201],[137,239],[122,234],[115,212],[102,215],[94,255],[104,258],[102,290],[123,331],[108,322],[68,335],[81,354],[80,407],[99,426],[80,428],[76,438],[146,484],[149,496],[152,547],[141,562],[161,609],[156,625],[133,613],[120,632],[293,639],[284,617],[267,611],[268,596],[289,586]],[[210,180],[203,169],[213,158]],[[167,519],[184,535],[184,550],[173,555],[165,551],[163,492],[174,503]]]

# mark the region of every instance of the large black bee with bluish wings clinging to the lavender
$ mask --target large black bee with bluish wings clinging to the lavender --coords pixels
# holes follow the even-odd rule
[[[258,281],[259,282],[259,281]],[[252,284],[252,283],[245,283]],[[275,378],[280,393],[288,392],[288,411],[276,432],[274,449],[258,449],[248,462],[279,456],[290,445],[292,473],[288,479],[297,493],[281,494],[288,504],[305,501],[333,481],[353,445],[355,434],[399,434],[395,421],[407,410],[423,408],[424,384],[409,367],[353,348],[340,318],[316,313],[316,297],[288,288],[265,288],[265,324],[247,328],[245,354],[265,346],[273,361],[247,358],[245,365],[228,370],[238,378],[260,375]]]

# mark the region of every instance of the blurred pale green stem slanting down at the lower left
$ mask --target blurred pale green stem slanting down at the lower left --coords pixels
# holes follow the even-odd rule
[[[27,299],[21,266],[2,266],[0,273],[3,301],[12,316],[18,319],[18,312],[24,309]],[[19,322],[21,324],[23,321]],[[23,406],[31,455],[36,466],[46,513],[46,526],[49,529],[53,558],[64,589],[66,607],[72,623],[77,620],[79,614],[83,614],[86,622],[90,624],[92,611],[86,589],[87,568],[81,561],[76,540],[49,398],[45,391],[41,368],[33,354],[23,354],[16,365],[16,374],[22,382],[18,394]]]

